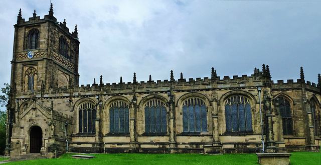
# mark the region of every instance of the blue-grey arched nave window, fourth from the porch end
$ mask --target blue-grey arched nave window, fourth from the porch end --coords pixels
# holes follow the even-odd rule
[[[183,132],[207,132],[207,112],[205,102],[196,97],[183,103]]]

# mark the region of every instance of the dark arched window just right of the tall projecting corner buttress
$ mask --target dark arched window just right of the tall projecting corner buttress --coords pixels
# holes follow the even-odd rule
[[[293,122],[290,102],[283,96],[275,99],[276,107],[280,109],[280,115],[283,123],[283,134],[293,134]]]

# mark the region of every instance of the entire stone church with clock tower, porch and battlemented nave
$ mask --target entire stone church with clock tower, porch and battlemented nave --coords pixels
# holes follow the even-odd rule
[[[58,22],[18,14],[7,107],[6,153],[228,153],[319,150],[321,77],[252,75],[79,86],[79,38]],[[253,66],[255,67],[255,66]],[[98,80],[97,80],[98,81]],[[262,112],[262,126],[261,115]]]

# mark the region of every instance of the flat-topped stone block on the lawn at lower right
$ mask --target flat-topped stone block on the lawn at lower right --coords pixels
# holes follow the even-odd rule
[[[258,164],[290,164],[292,153],[256,153]]]

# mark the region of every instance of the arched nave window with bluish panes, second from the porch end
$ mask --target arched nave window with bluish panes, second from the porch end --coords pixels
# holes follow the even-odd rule
[[[124,101],[114,101],[109,108],[110,133],[129,133],[129,107]]]

